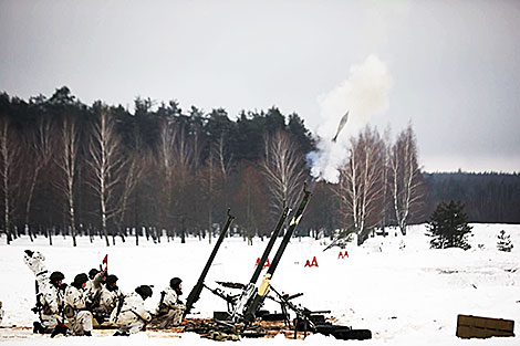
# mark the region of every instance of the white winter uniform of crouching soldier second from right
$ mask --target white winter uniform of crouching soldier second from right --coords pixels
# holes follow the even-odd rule
[[[152,315],[146,311],[141,295],[135,292],[125,297],[118,314],[117,308],[114,308],[111,315],[111,322],[119,328],[119,332],[131,334],[143,331],[149,321],[152,321]]]

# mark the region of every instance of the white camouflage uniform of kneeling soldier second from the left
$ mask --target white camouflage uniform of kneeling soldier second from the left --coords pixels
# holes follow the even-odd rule
[[[86,311],[86,293],[73,285],[67,286],[65,290],[65,314],[69,310],[72,314],[66,315],[66,318],[72,325],[74,335],[92,332],[92,313]]]

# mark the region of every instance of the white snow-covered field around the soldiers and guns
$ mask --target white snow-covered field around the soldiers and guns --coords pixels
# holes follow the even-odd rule
[[[391,231],[389,237],[370,239],[363,247],[350,245],[349,258],[339,259],[339,248],[323,252],[326,240],[293,239],[273,275],[272,285],[287,293],[303,292],[295,300],[311,310],[331,310],[337,324],[354,328],[368,328],[373,339],[364,342],[335,340],[333,337],[312,335],[304,342],[284,339],[242,339],[243,345],[520,345],[520,226],[472,224],[472,248],[430,250],[425,226],[412,227],[406,237]],[[497,234],[505,230],[514,244],[512,252],[497,250]],[[35,315],[34,277],[22,261],[23,250],[39,250],[46,256],[49,270],[60,270],[65,282],[75,274],[98,266],[108,254],[108,271],[119,277],[123,292],[139,284],[155,286],[154,296],[146,301],[156,306],[159,292],[173,276],[184,282],[184,298],[197,281],[212,244],[207,240],[189,239],[153,244],[144,242],[136,248],[127,243],[106,248],[96,239],[91,244],[80,239],[72,248],[70,239],[55,238],[46,245],[44,238],[34,243],[18,239],[6,245],[0,238],[0,301],[6,316],[0,328],[0,343],[10,345],[199,345],[216,342],[200,339],[187,333],[180,338],[157,337],[141,333],[128,338],[102,336],[91,338],[32,335],[28,329],[6,326],[32,326]],[[206,283],[215,281],[247,282],[267,241],[253,240],[248,247],[240,238],[227,238],[215,259]],[[481,244],[479,247],[479,244]],[[273,250],[275,251],[277,247]],[[273,255],[273,254],[272,254]],[[270,258],[272,258],[272,255]],[[304,268],[306,260],[316,258],[319,266]],[[272,305],[271,305],[272,304]],[[279,307],[268,302],[267,308]],[[225,311],[226,302],[204,291],[195,311],[198,316],[211,316]],[[457,315],[514,319],[516,337],[490,339],[459,339],[455,336]],[[230,342],[228,342],[230,343]]]

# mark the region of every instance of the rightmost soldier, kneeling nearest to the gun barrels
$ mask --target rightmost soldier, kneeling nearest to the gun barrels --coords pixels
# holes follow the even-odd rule
[[[183,321],[183,314],[186,305],[179,300],[183,294],[183,281],[174,277],[169,281],[169,286],[160,292],[160,301],[156,311],[156,318],[159,328],[178,326]]]

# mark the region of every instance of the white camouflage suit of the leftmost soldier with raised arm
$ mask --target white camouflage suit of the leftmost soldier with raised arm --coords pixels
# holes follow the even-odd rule
[[[46,271],[45,256],[34,251],[32,255],[24,253],[23,262],[34,273],[38,284],[37,300],[41,304],[40,322],[46,332],[52,332],[58,325],[58,316],[60,315],[60,306],[63,305],[62,292],[51,284],[50,274]]]

